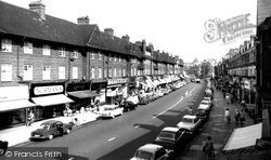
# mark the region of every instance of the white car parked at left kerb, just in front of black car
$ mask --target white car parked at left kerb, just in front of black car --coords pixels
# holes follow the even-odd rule
[[[103,109],[100,111],[100,116],[102,118],[115,118],[116,116],[124,115],[124,108],[118,105],[105,105]]]

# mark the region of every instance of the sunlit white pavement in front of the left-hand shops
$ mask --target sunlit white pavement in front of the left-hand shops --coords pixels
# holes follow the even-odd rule
[[[100,116],[98,114],[88,111],[85,114],[78,114],[78,115],[73,116],[73,117],[57,117],[57,118],[41,120],[41,121],[34,122],[31,126],[21,125],[21,126],[7,129],[7,130],[1,130],[0,131],[0,139],[8,141],[9,147],[13,147],[13,146],[20,145],[22,143],[29,142],[31,131],[38,129],[38,126],[44,121],[60,120],[64,123],[68,123],[68,122],[72,122],[72,119],[78,118],[78,120],[80,121],[80,125],[81,125],[81,124],[86,124],[86,123],[95,121],[95,120],[98,120],[99,117]]]

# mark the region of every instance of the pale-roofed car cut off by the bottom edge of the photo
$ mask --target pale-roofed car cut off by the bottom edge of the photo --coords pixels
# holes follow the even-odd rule
[[[173,151],[156,144],[140,147],[130,160],[170,160]]]

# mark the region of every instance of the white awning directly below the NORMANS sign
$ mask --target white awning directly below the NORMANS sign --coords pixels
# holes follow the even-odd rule
[[[64,94],[33,97],[33,101],[35,104],[43,107],[74,102],[70,98],[66,97]]]

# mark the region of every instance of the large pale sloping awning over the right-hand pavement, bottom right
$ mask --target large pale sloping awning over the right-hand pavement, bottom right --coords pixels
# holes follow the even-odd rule
[[[223,154],[253,152],[256,150],[256,142],[261,138],[262,123],[234,129],[227,144]]]

